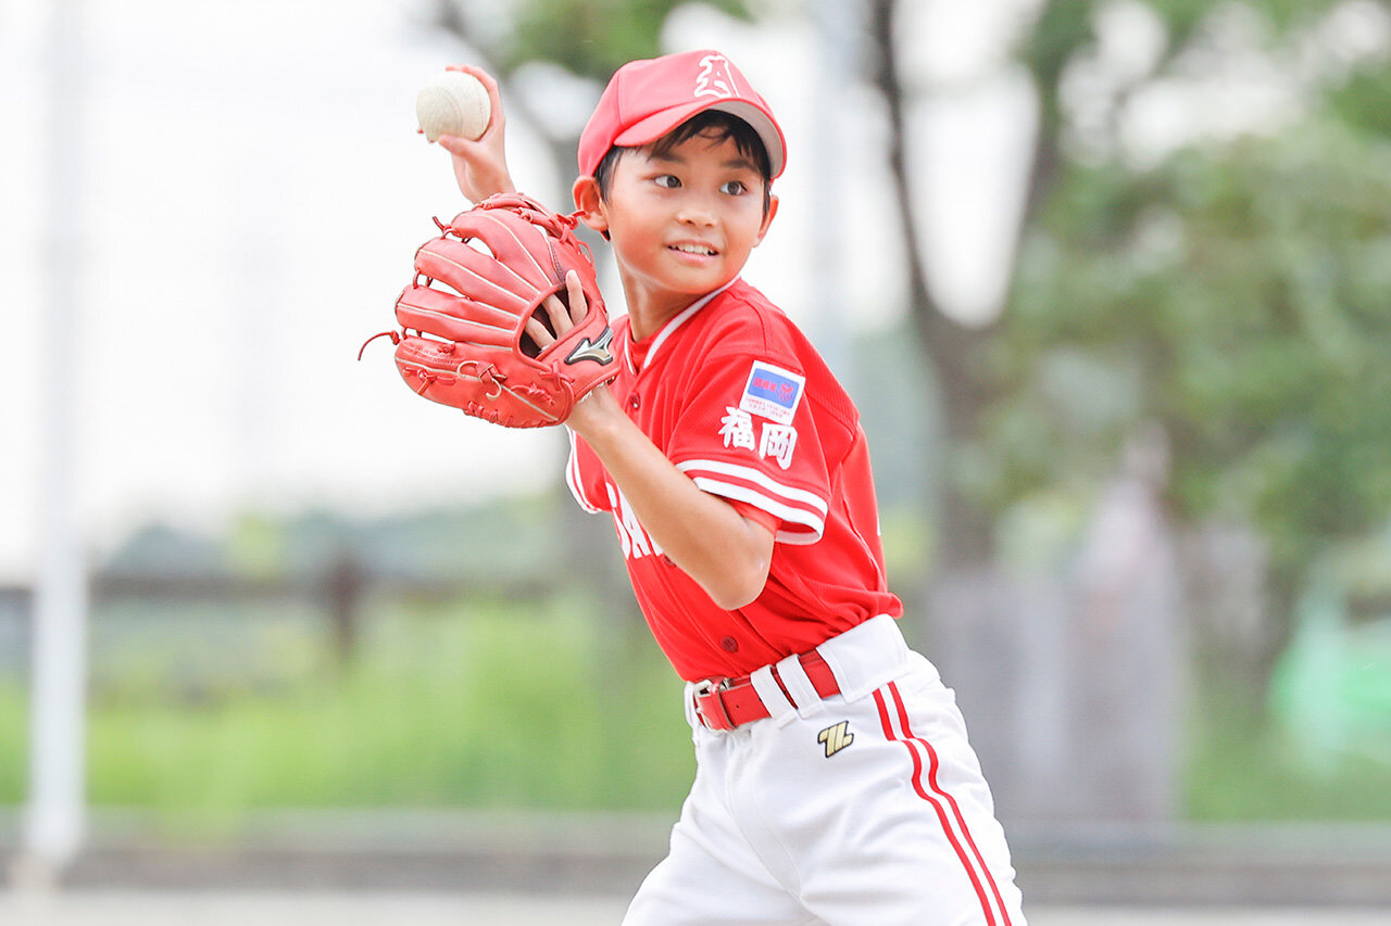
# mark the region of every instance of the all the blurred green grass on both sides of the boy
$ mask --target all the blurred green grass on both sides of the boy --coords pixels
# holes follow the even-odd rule
[[[645,631],[601,627],[574,601],[402,605],[344,667],[312,613],[97,615],[89,797],[198,834],[291,806],[675,811],[693,773],[680,685]],[[0,679],[0,805],[24,799],[26,712]],[[1391,820],[1391,763],[1312,769],[1213,694],[1193,717],[1188,819]]]

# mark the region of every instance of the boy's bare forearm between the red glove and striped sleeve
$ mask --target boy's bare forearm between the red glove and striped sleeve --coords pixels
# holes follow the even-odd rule
[[[772,562],[772,531],[697,488],[608,389],[584,396],[566,424],[598,455],[643,528],[711,601],[734,610],[758,598]]]

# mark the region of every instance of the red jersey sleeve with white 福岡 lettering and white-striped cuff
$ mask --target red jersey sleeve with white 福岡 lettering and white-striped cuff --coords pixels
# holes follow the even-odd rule
[[[765,512],[778,541],[821,539],[829,467],[796,360],[766,348],[723,353],[693,382],[668,459],[698,488]]]

